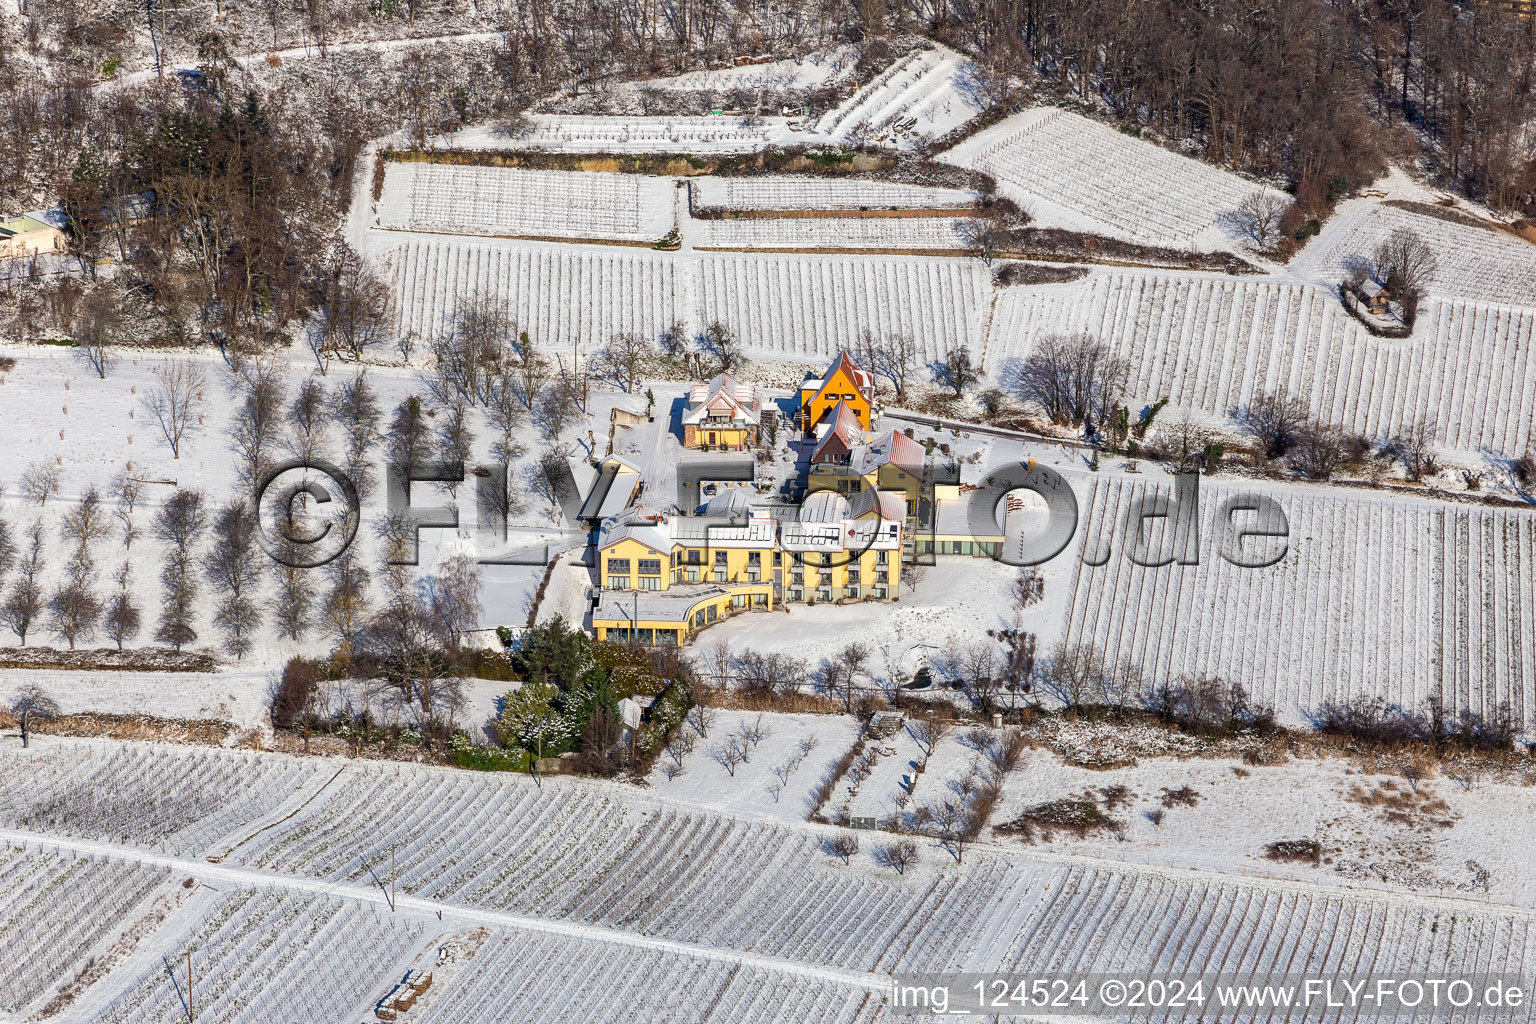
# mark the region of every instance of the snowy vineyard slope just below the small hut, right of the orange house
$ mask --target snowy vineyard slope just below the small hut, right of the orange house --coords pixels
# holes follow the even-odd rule
[[[1009,289],[989,368],[1087,332],[1130,364],[1137,401],[1224,418],[1284,390],[1326,422],[1385,436],[1428,421],[1448,448],[1518,453],[1536,416],[1536,310],[1432,301],[1404,341],[1373,338],[1326,289],[1175,273],[1095,273]]]

